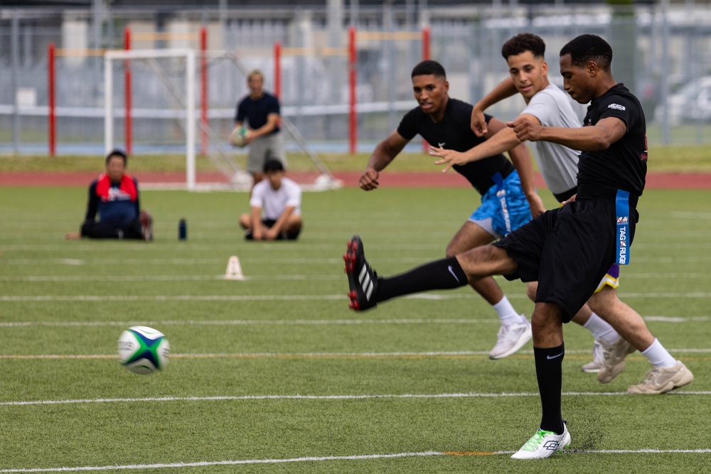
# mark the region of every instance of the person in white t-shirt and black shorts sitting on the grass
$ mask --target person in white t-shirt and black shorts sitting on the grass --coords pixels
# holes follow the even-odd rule
[[[301,187],[284,176],[279,160],[264,163],[264,176],[252,189],[252,211],[240,216],[245,239],[294,240],[301,232]]]

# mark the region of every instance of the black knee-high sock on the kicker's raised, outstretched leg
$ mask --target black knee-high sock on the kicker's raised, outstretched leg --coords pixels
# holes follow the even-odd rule
[[[456,257],[437,260],[390,278],[378,278],[375,301],[427,290],[449,290],[468,283]]]

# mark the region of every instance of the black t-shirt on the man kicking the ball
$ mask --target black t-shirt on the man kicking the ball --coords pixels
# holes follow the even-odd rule
[[[585,126],[605,117],[617,117],[627,125],[621,139],[602,151],[584,151],[578,163],[578,184],[602,185],[641,195],[647,173],[647,135],[644,112],[622,83],[590,102]]]

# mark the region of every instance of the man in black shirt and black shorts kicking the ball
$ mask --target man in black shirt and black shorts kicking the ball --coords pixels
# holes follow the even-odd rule
[[[531,325],[542,416],[539,429],[512,456],[517,459],[547,458],[570,446],[561,412],[562,325],[592,295],[611,264],[629,263],[646,176],[646,124],[638,99],[614,80],[611,61],[610,45],[599,36],[578,36],[560,50],[564,90],[581,104],[591,102],[584,126],[541,126],[526,117],[510,124],[520,141],[551,141],[582,151],[577,195],[562,208],[544,212],[498,242],[392,278],[378,278],[372,271],[360,237],[348,242],[348,286],[361,309],[494,274],[538,280]],[[679,364],[674,375],[656,371],[645,384],[683,387],[693,375]]]

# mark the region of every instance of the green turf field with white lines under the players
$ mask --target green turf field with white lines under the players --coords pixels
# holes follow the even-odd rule
[[[409,269],[442,257],[471,191],[305,193],[301,238],[274,243],[242,240],[245,193],[144,191],[154,242],[65,241],[85,193],[0,188],[0,474],[708,472],[707,192],[643,195],[619,291],[695,381],[628,395],[648,370],[636,353],[598,384],[580,371],[592,338],[568,325],[573,451],[540,461],[509,458],[540,421],[531,345],[488,360],[498,319],[471,289],[348,310],[353,233],[381,274]],[[246,281],[219,278],[232,255]],[[499,281],[530,315],[523,284]],[[135,324],[169,338],[163,372],[119,365]]]

